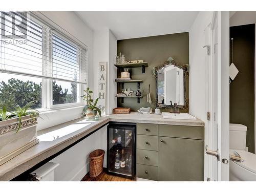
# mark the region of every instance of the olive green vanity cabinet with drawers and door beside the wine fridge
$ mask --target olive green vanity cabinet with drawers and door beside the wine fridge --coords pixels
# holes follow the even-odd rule
[[[147,127],[150,131],[145,131]],[[137,123],[136,161],[137,177],[203,181],[204,127]]]

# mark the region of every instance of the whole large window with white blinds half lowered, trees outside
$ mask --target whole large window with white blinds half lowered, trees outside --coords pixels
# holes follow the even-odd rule
[[[81,104],[86,61],[86,49],[26,12],[1,12],[0,103]]]

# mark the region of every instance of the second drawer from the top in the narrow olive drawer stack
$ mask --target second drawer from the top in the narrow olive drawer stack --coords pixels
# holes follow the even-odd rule
[[[158,151],[158,137],[151,135],[137,135],[137,148],[141,150]]]

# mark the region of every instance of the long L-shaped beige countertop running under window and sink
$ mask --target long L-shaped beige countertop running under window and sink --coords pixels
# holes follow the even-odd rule
[[[9,181],[15,178],[34,165],[60,152],[79,139],[86,137],[110,121],[204,126],[204,122],[200,119],[164,119],[162,115],[144,115],[137,112],[132,112],[130,114],[106,115],[95,121],[87,121],[84,118],[75,119],[38,131],[38,144],[0,166],[0,181]]]

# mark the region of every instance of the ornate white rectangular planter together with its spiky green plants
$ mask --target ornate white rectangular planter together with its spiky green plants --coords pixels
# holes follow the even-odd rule
[[[0,165],[39,142],[36,139],[36,124],[39,112],[30,109],[33,102],[23,108],[16,106],[8,111],[0,108]]]

